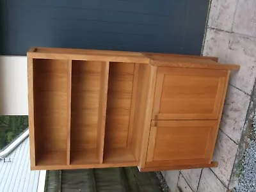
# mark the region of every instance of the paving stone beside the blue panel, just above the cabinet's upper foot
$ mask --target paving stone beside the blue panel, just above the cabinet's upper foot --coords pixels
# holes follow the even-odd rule
[[[220,63],[225,63],[227,60],[228,42],[230,33],[217,29],[207,29],[204,44],[204,56],[216,56]]]

